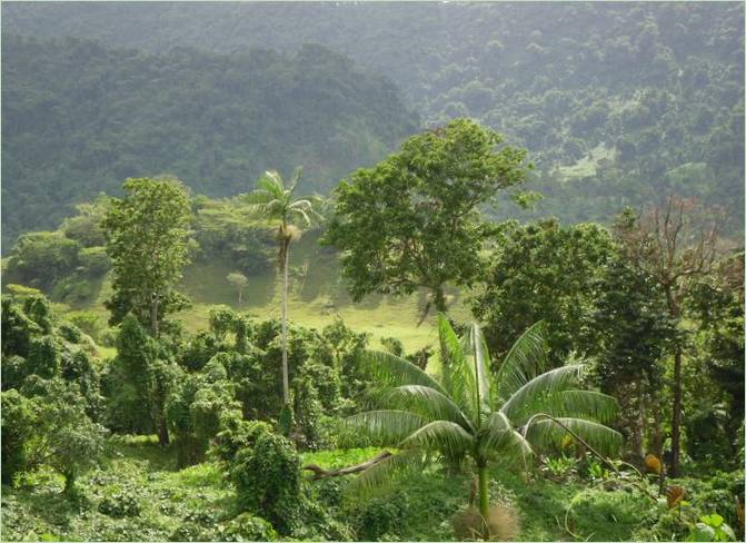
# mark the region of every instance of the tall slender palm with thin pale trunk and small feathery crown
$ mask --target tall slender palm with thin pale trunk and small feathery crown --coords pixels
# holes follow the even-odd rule
[[[255,206],[260,215],[277,221],[277,241],[279,244],[277,261],[282,274],[282,401],[290,404],[288,383],[288,263],[290,243],[300,237],[301,227],[311,225],[319,218],[314,205],[320,201],[317,196],[294,198],[301,168],[297,168],[288,187],[282,177],[275,171],[266,171],[257,181],[257,188],[247,195],[247,201]]]

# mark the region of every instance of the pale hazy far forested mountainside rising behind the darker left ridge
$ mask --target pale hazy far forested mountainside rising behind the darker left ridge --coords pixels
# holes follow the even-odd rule
[[[536,217],[608,224],[673,190],[725,206],[729,231],[743,233],[739,3],[6,3],[2,24],[153,52],[318,42],[391,78],[427,126],[468,116],[527,147],[545,194]],[[288,155],[269,142],[252,152]],[[226,162],[200,182],[221,179]]]

